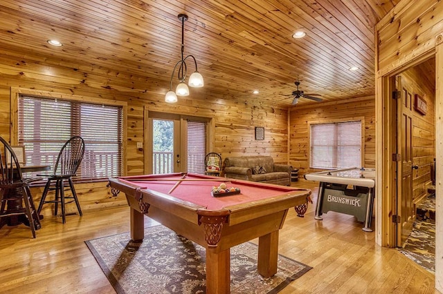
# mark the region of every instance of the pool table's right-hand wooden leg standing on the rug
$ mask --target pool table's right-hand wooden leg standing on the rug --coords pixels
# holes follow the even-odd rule
[[[262,277],[272,277],[277,273],[278,230],[258,239],[257,271]]]

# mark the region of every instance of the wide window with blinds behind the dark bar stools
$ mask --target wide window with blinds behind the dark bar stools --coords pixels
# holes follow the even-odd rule
[[[122,175],[123,106],[21,95],[18,130],[26,162],[54,166],[63,144],[80,135],[86,149],[78,177]]]

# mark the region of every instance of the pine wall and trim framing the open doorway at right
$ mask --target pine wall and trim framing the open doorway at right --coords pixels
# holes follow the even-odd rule
[[[418,4],[419,3],[419,4]],[[377,149],[382,150],[377,157],[377,213],[379,218],[376,224],[377,243],[388,246],[395,236],[395,226],[390,214],[395,199],[392,186],[394,173],[389,162],[392,150],[390,145],[390,119],[388,79],[390,76],[415,66],[422,61],[435,56],[435,157],[437,158],[436,190],[436,228],[435,235],[443,233],[441,219],[443,217],[443,188],[441,184],[443,160],[443,94],[442,94],[442,39],[443,39],[443,2],[437,0],[402,0],[386,17],[383,17],[375,28],[376,34],[376,119],[377,119]],[[383,146],[388,144],[388,146]],[[439,221],[440,219],[440,221]],[[441,238],[435,242],[435,288],[443,291],[443,243]]]

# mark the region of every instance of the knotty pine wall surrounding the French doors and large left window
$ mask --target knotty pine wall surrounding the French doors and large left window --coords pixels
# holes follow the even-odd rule
[[[23,54],[24,55],[24,54]],[[36,60],[33,60],[36,59]],[[181,112],[187,115],[213,117],[215,121],[215,148],[222,157],[237,155],[271,155],[276,162],[287,163],[287,110],[255,103],[251,99],[235,97],[209,97],[204,88],[191,89],[191,95],[179,98],[177,104],[166,104],[164,94],[143,88],[143,80],[128,77],[116,69],[76,68],[75,64],[44,65],[44,60],[29,55],[24,58],[2,55],[0,57],[0,135],[10,139],[10,89],[26,88],[57,92],[64,95],[83,95],[104,99],[127,101],[127,175],[141,175],[144,170],[143,142],[145,128],[144,108],[162,112]],[[171,68],[172,70],[172,68]],[[208,91],[209,92],[209,91]],[[264,140],[255,140],[255,126],[265,129]],[[76,184],[84,212],[104,206],[127,205],[125,197],[113,197],[106,182]],[[42,195],[41,188],[33,190],[36,203]],[[44,214],[51,213],[46,204]],[[46,207],[45,206],[45,207]],[[70,205],[67,212],[74,212]]]

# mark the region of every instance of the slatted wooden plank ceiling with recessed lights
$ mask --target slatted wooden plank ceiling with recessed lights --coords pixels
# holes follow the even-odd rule
[[[374,95],[374,26],[398,2],[0,0],[0,48],[3,57],[94,72],[110,88],[164,95],[180,59],[177,15],[186,13],[184,54],[197,59],[201,95],[286,108],[296,80],[324,101]],[[293,39],[299,29],[306,37]],[[300,99],[307,103],[318,102]]]

